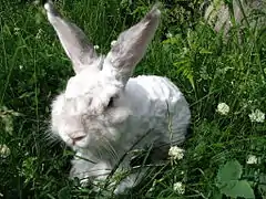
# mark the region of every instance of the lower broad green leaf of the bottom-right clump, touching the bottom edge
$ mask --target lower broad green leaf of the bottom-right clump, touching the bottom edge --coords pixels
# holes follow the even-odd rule
[[[221,188],[221,192],[233,198],[255,198],[254,191],[246,180],[232,180]]]

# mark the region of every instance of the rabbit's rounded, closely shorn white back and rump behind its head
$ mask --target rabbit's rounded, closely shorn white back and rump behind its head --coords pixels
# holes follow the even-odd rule
[[[149,121],[149,128],[161,134],[161,142],[171,137],[177,143],[185,139],[191,111],[184,95],[168,78],[155,75],[130,78],[125,96],[134,115]]]

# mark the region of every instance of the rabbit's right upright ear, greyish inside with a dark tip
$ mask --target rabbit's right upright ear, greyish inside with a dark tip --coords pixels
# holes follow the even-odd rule
[[[157,6],[154,6],[139,23],[122,32],[104,60],[103,70],[112,67],[116,77],[126,83],[154,36],[160,15]]]

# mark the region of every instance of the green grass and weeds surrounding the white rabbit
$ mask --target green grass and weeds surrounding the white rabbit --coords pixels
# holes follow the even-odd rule
[[[106,53],[119,32],[149,9],[142,1],[136,8],[122,2],[64,0],[59,8]],[[0,198],[95,198],[68,180],[70,149],[48,139],[50,104],[73,75],[71,63],[39,6],[3,0],[0,8],[0,144],[10,149],[0,157]],[[156,168],[131,198],[222,198],[217,175],[231,160],[241,164],[241,179],[256,198],[265,197],[266,123],[248,117],[266,112],[265,27],[235,27],[224,40],[198,19],[193,29],[165,39],[163,17],[135,75],[164,75],[178,85],[191,104],[193,134],[184,159]],[[216,111],[219,103],[229,106],[227,115]],[[248,165],[248,155],[258,163]],[[183,195],[173,190],[178,181]]]

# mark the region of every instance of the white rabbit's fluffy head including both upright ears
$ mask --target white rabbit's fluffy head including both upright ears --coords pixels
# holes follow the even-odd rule
[[[81,29],[63,19],[51,2],[44,8],[75,72],[52,104],[53,133],[78,147],[116,139],[116,127],[130,115],[123,91],[156,31],[160,10],[154,7],[119,35],[106,56],[99,56]]]

